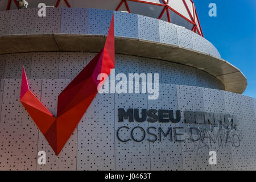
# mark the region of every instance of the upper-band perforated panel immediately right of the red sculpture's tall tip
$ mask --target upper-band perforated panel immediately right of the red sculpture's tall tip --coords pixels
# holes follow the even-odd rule
[[[115,36],[138,38],[138,15],[114,11]]]

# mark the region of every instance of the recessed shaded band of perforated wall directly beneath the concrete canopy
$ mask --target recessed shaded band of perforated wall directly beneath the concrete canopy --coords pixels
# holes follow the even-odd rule
[[[96,53],[30,52],[0,55],[1,78],[74,78]],[[146,57],[115,55],[115,73],[158,73],[160,84],[179,84],[224,90],[216,77],[199,69]]]

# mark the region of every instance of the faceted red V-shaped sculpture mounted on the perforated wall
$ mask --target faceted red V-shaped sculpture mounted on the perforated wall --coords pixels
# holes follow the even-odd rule
[[[114,58],[114,16],[109,27],[104,48],[90,61],[58,96],[57,117],[30,91],[23,67],[20,102],[26,108],[48,143],[59,155],[61,149],[76,129],[86,109],[98,93],[101,82],[98,75],[110,75],[115,66]]]

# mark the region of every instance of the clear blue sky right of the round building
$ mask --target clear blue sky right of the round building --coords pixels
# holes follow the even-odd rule
[[[256,0],[194,0],[204,37],[222,59],[247,78],[243,94],[256,98]],[[216,3],[217,17],[210,17],[209,3]]]

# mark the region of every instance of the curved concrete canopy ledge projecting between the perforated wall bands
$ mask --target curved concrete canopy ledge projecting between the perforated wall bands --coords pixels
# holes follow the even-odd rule
[[[0,36],[0,54],[20,52],[98,52],[105,35],[31,34]],[[225,90],[243,93],[246,77],[232,64],[207,53],[137,38],[115,36],[115,53],[150,57],[195,67],[222,81]]]

